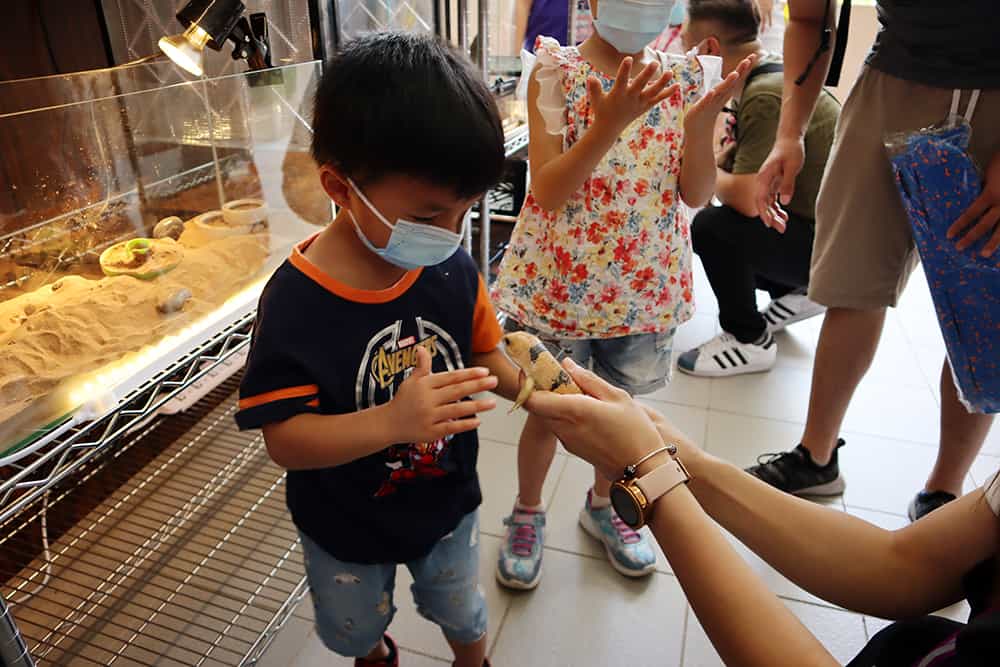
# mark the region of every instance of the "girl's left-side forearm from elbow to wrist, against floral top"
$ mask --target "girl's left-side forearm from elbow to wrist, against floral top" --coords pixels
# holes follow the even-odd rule
[[[618,132],[594,123],[565,153],[531,174],[531,192],[538,205],[554,211],[583,187],[618,140]]]

